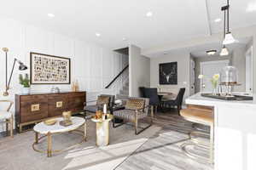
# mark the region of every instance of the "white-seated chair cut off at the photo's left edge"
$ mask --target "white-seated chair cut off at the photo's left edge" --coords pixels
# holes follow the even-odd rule
[[[13,101],[10,100],[0,100],[0,103],[9,103],[9,106],[6,110],[0,111],[0,120],[6,123],[6,133],[10,132],[10,136],[14,137],[14,116],[10,112]]]

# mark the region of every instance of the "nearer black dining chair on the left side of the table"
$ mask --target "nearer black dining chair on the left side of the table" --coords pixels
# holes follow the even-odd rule
[[[157,107],[160,105],[160,99],[157,94],[157,88],[144,88],[144,98],[149,99],[149,105],[151,106],[152,111],[157,113]]]

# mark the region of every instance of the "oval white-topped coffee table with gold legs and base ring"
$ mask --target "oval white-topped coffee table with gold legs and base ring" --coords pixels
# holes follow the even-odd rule
[[[62,117],[55,118],[57,121],[54,125],[46,125],[44,122],[40,122],[37,125],[34,126],[33,130],[35,132],[35,142],[32,144],[32,148],[35,151],[41,152],[41,153],[47,153],[47,156],[52,156],[52,153],[60,152],[64,150],[69,150],[72,147],[76,146],[77,144],[73,144],[72,146],[67,147],[64,150],[52,150],[52,135],[55,133],[67,133],[67,132],[78,132],[83,135],[83,139],[78,143],[81,144],[82,142],[86,141],[86,123],[84,118],[72,116],[71,120],[73,122],[72,125],[64,127],[60,125],[60,122],[63,121]],[[84,126],[84,131],[78,130],[79,127]],[[38,138],[38,134],[43,134],[44,136]],[[38,144],[40,139],[43,139],[44,137],[47,137],[47,150],[38,150],[35,148],[35,145]]]

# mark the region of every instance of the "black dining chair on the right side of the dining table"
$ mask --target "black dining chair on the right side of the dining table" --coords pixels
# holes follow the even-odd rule
[[[186,88],[180,88],[176,99],[170,99],[170,100],[167,100],[167,101],[163,101],[162,104],[167,106],[167,107],[177,106],[177,111],[178,111],[178,114],[179,114],[179,111],[182,109],[182,105],[183,105],[183,95],[185,93],[185,89]]]

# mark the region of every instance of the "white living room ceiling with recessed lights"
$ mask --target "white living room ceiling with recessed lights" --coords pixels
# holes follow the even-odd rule
[[[0,0],[0,16],[108,48],[152,48],[222,31],[225,0]],[[232,28],[256,24],[255,0],[230,1]],[[207,8],[208,7],[208,8]],[[255,10],[253,10],[255,8]],[[247,9],[251,12],[247,12]],[[153,12],[148,18],[146,13]],[[47,14],[55,14],[49,18]],[[207,15],[209,14],[209,15]],[[96,32],[101,37],[96,37]],[[123,38],[127,38],[123,41]]]

